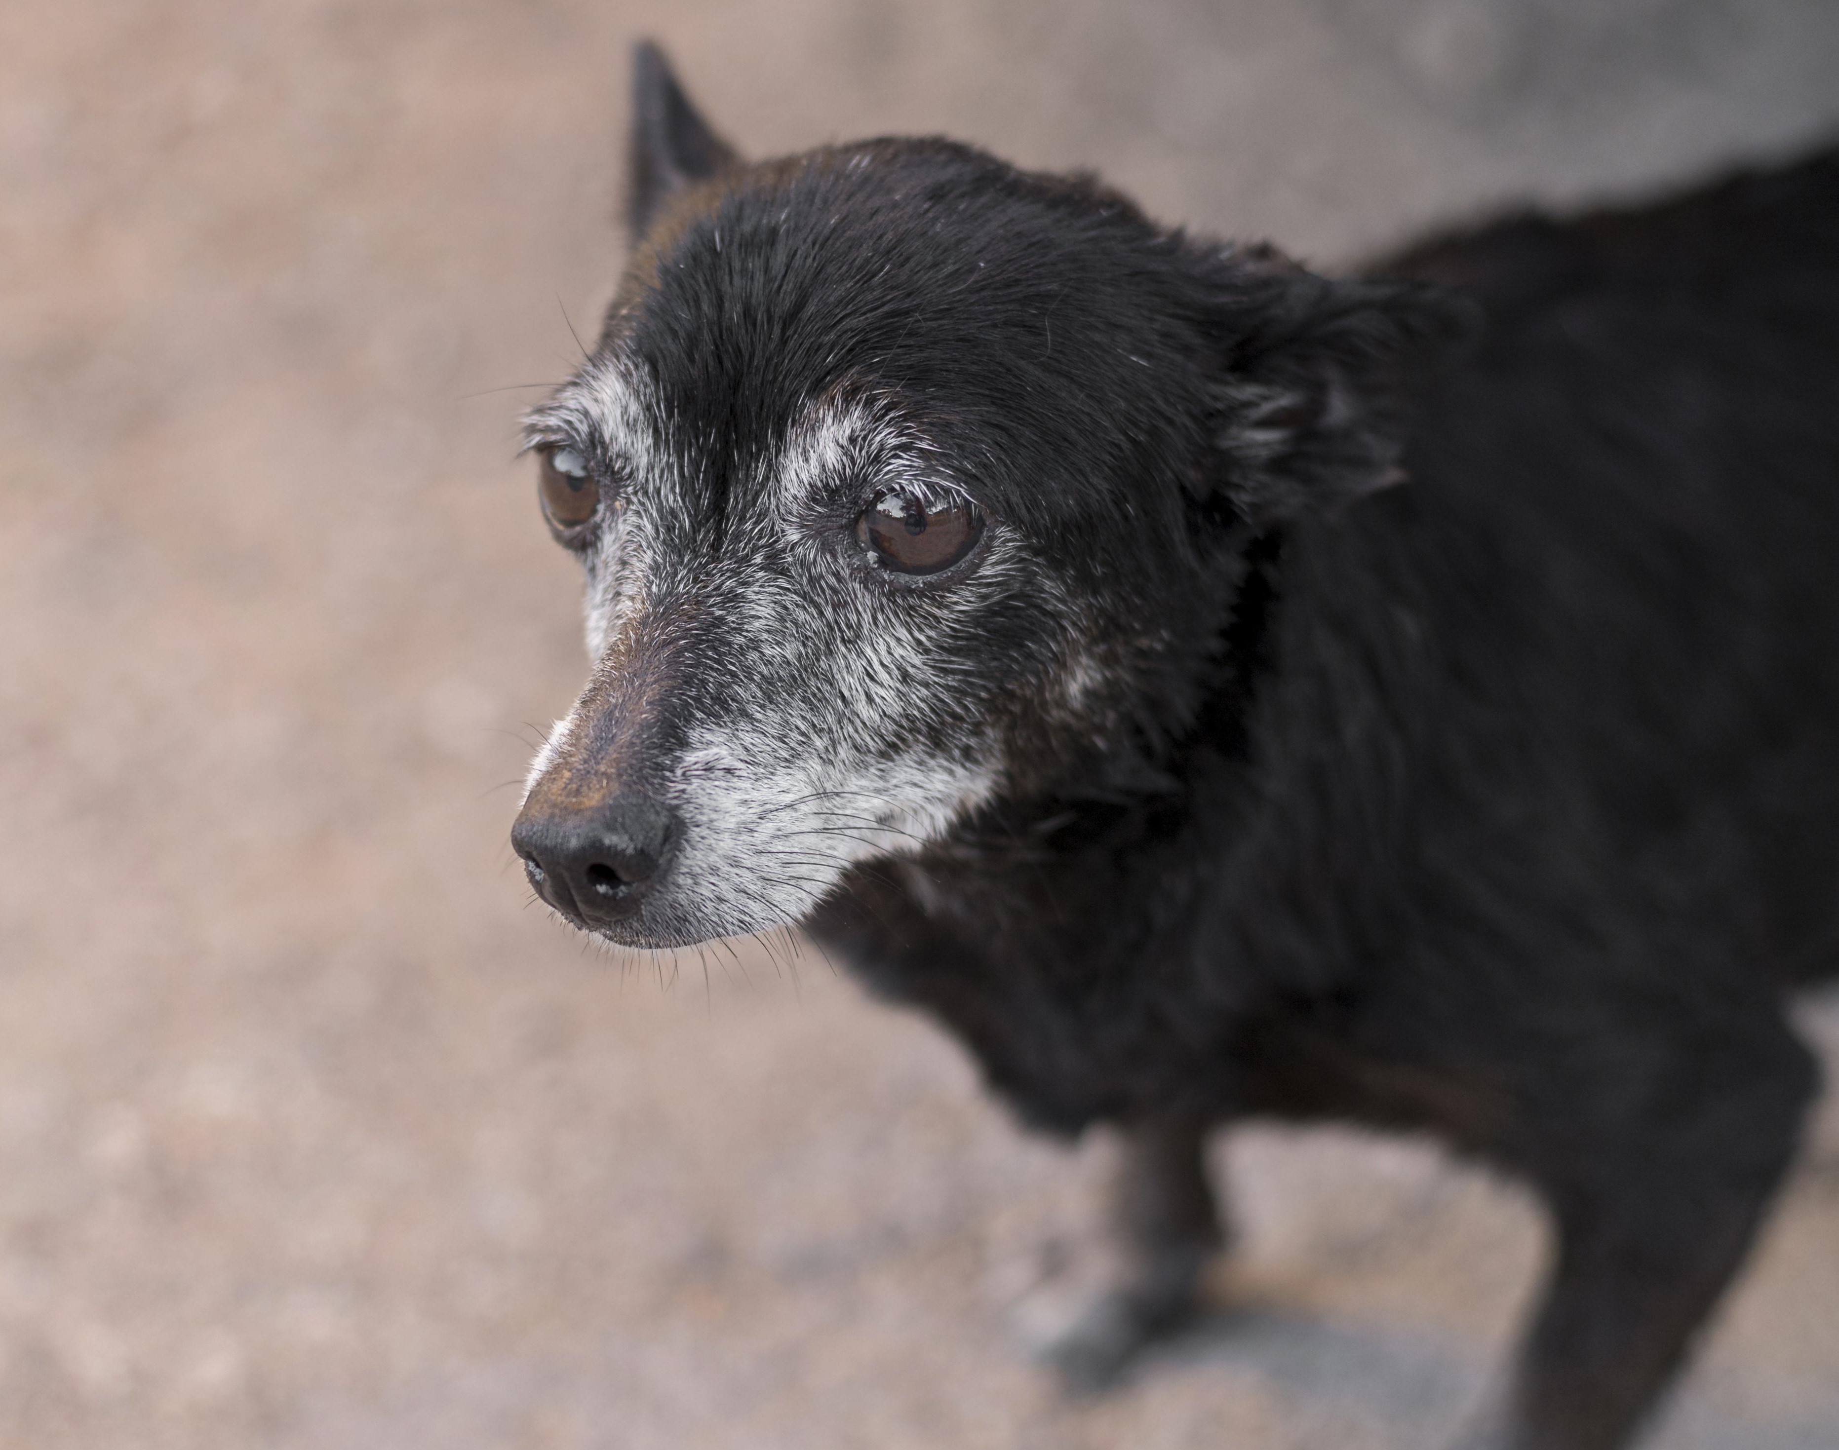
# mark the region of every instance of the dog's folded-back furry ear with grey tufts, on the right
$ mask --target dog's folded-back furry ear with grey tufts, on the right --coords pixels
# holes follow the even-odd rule
[[[1401,481],[1418,395],[1475,309],[1429,283],[1333,281],[1274,252],[1227,270],[1216,489],[1276,522]]]

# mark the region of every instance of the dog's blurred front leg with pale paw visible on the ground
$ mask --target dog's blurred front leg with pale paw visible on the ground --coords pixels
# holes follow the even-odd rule
[[[1024,1307],[1032,1347],[1079,1389],[1111,1384],[1146,1343],[1188,1316],[1206,1263],[1227,1240],[1206,1180],[1205,1121],[1160,1117],[1120,1138],[1107,1165],[1096,1285],[1070,1297],[1046,1290]]]

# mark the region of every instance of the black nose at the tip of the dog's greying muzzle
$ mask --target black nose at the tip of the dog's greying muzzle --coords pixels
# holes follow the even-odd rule
[[[524,807],[511,849],[550,906],[587,926],[633,915],[664,877],[677,845],[677,818],[645,799],[600,810]]]

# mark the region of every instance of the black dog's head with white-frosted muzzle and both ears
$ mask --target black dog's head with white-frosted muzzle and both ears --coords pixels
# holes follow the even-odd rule
[[[649,46],[631,175],[605,331],[528,419],[594,669],[513,844],[634,946],[1140,772],[1247,538],[1396,476],[1445,331],[949,142],[743,165]]]

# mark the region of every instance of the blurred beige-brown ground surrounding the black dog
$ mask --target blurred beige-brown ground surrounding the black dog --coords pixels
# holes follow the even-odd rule
[[[524,908],[583,662],[487,390],[605,298],[640,33],[754,153],[951,130],[1326,261],[1839,127],[1822,0],[0,11],[0,1443],[1433,1444],[1517,1195],[1243,1132],[1238,1308],[1065,1402],[1008,1316],[1091,1149],[822,963]],[[1839,1443],[1817,1138],[1670,1450]]]

